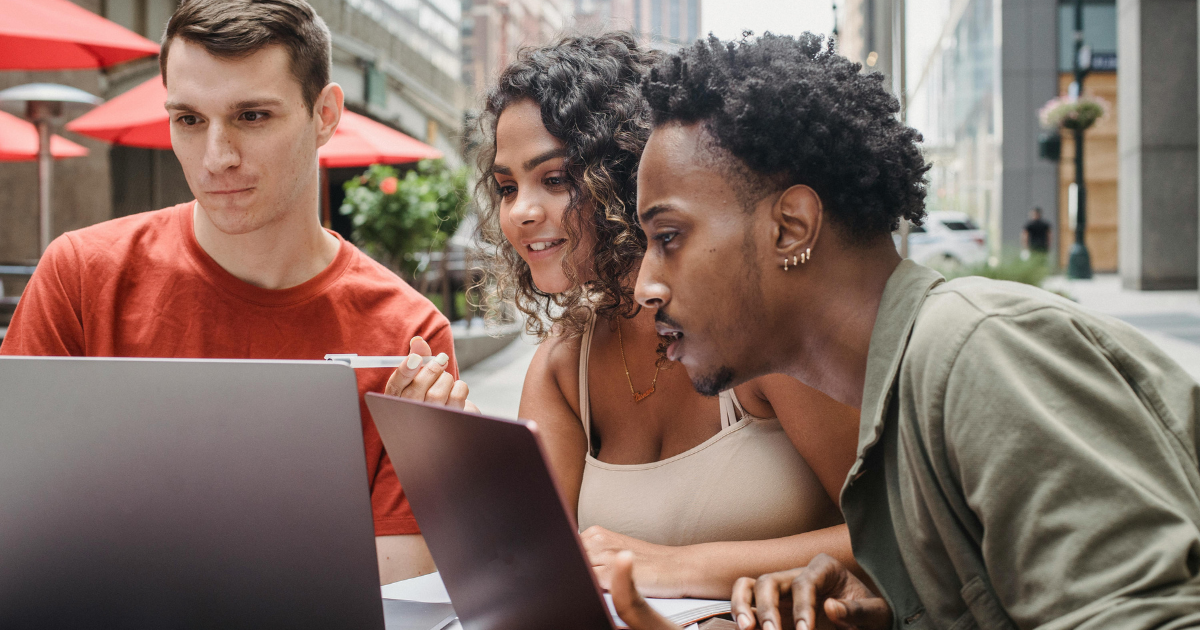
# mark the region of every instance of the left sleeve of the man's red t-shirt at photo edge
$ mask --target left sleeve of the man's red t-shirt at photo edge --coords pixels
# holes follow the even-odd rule
[[[71,236],[50,242],[17,302],[0,354],[82,356],[82,274]]]

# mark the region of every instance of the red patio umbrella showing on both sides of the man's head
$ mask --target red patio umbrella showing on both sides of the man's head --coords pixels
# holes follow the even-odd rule
[[[126,146],[170,149],[166,102],[167,88],[155,77],[72,120],[67,128]],[[354,112],[342,112],[342,122],[318,155],[320,166],[341,168],[416,162],[442,157],[442,151]]]

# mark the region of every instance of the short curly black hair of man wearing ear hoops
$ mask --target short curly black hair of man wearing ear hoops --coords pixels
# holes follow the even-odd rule
[[[740,175],[730,179],[746,210],[806,185],[838,232],[865,244],[901,218],[920,224],[929,166],[883,76],[860,70],[811,32],[709,36],[662,59],[642,91],[654,126],[703,122],[718,160]]]

